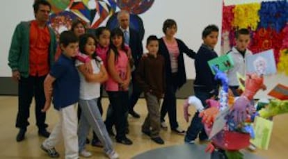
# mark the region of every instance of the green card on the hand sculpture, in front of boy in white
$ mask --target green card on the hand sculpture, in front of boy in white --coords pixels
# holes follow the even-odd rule
[[[234,67],[234,62],[230,54],[228,53],[227,55],[219,56],[218,58],[213,58],[212,60],[209,60],[208,65],[212,73],[215,74],[212,66],[216,65],[216,67],[218,67],[220,71],[225,72],[228,69],[231,69],[232,67]]]

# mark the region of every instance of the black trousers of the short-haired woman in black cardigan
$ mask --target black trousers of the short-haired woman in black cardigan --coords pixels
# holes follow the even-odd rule
[[[170,128],[177,128],[177,109],[176,109],[176,91],[177,91],[177,74],[172,74],[170,82],[166,82],[166,92],[161,106],[161,122],[168,112]]]

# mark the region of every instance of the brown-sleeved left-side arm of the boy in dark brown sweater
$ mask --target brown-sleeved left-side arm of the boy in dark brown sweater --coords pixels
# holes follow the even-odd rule
[[[144,92],[149,92],[150,86],[147,85],[147,83],[145,83],[144,60],[145,57],[142,57],[141,60],[139,61],[138,67],[135,72],[135,79]]]

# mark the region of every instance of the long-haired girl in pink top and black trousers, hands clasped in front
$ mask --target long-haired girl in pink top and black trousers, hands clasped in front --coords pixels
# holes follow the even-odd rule
[[[107,57],[109,79],[106,81],[106,92],[113,108],[115,118],[116,142],[132,144],[126,137],[126,115],[128,110],[128,87],[131,78],[128,50],[124,44],[124,35],[120,28],[111,31],[111,44]]]

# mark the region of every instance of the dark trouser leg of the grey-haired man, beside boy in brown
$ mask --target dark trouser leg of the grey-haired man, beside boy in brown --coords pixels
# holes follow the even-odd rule
[[[141,93],[142,90],[136,82],[135,72],[132,72],[132,93],[129,97],[129,111],[134,109],[134,106],[136,105]]]

